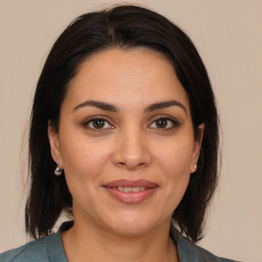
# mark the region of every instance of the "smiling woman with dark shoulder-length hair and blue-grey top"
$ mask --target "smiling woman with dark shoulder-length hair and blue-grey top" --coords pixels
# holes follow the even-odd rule
[[[181,29],[130,5],[76,18],[34,97],[26,229],[37,239],[1,261],[229,261],[193,244],[218,145],[211,84]],[[52,234],[63,211],[74,222]]]

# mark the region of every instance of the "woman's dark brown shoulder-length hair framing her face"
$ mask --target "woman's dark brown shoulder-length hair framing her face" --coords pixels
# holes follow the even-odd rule
[[[61,103],[87,56],[106,49],[134,48],[156,50],[169,59],[187,92],[195,132],[199,124],[205,123],[198,169],[172,214],[191,241],[202,237],[218,173],[219,118],[210,80],[197,49],[177,25],[154,11],[133,5],[77,17],[58,37],[47,57],[36,86],[29,134],[31,188],[26,204],[26,230],[32,237],[50,234],[61,212],[72,209],[64,174],[54,175],[48,120],[58,130]]]

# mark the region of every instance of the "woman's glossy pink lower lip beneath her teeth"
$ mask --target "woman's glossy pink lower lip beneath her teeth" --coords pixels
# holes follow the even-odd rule
[[[122,192],[111,187],[104,187],[115,199],[126,204],[138,204],[151,197],[158,187],[147,188],[140,192]]]

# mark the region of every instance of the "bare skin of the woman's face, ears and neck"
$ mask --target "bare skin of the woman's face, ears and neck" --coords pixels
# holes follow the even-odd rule
[[[89,100],[118,112],[82,104]],[[146,111],[170,100],[182,106]],[[106,121],[103,128],[94,127],[94,117]],[[170,218],[195,171],[203,131],[201,124],[194,139],[188,96],[162,54],[107,50],[86,59],[61,105],[59,132],[48,127],[52,157],[73,197],[75,224],[62,233],[69,261],[178,261]],[[119,179],[158,188],[127,204],[103,187]]]

